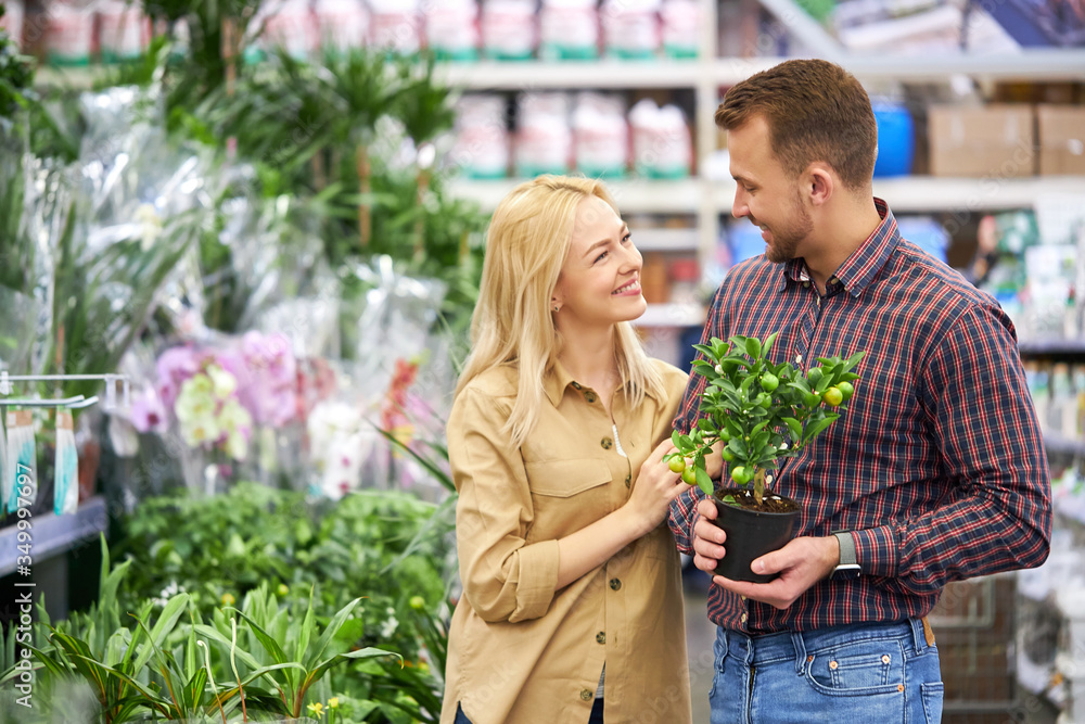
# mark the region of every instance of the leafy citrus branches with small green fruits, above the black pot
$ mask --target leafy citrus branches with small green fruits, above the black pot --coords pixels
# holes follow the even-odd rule
[[[705,471],[713,445],[722,444],[731,481],[743,487],[752,482],[760,503],[766,470],[799,455],[846,409],[843,403],[859,377],[852,369],[866,353],[819,358],[804,376],[791,363],[768,358],[776,336],[764,343],[752,336],[712,338],[710,344],[693,345],[701,353],[693,371],[706,380],[700,419],[688,435],[674,432],[678,452],[669,457],[692,459],[697,484],[706,495],[713,494]]]

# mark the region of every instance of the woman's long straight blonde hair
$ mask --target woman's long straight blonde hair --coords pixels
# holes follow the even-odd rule
[[[544,376],[561,351],[550,297],[569,254],[577,207],[589,196],[602,199],[617,212],[600,181],[540,176],[513,189],[489,223],[482,288],[471,318],[471,355],[456,394],[489,369],[516,367],[516,401],[506,424],[515,447],[535,427],[542,405]],[[662,395],[663,380],[633,326],[616,323],[614,340],[618,373],[623,385],[633,389],[633,404],[641,404],[646,392]]]

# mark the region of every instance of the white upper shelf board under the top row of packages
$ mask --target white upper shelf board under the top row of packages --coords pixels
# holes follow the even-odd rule
[[[472,90],[553,88],[692,88],[705,77],[697,61],[483,61],[447,63],[439,73],[450,85]]]

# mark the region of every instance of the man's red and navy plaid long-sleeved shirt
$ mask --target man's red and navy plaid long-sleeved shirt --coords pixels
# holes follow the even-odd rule
[[[764,339],[770,357],[804,370],[865,350],[847,412],[773,488],[803,507],[796,535],[851,531],[863,574],[822,580],[787,610],[718,586],[709,618],[749,633],[807,631],[926,615],[950,581],[1031,568],[1047,557],[1051,492],[1013,325],[959,274],[883,220],[828,281],[802,259],[743,262],[716,292],[704,339]],[[697,420],[705,379],[690,377],[674,427]],[[690,539],[690,488],[671,509],[679,550]]]

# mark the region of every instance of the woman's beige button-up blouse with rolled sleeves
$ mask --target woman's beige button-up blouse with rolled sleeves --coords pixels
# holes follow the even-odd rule
[[[448,454],[463,595],[449,631],[442,724],[451,724],[457,702],[473,724],[586,723],[603,663],[605,721],[691,721],[681,571],[665,521],[556,590],[558,538],[620,508],[648,454],[671,435],[687,377],[653,364],[666,398],[646,395],[634,408],[617,390],[613,421],[596,391],[559,365],[519,448],[501,431],[514,369],[481,374],[457,396]]]

